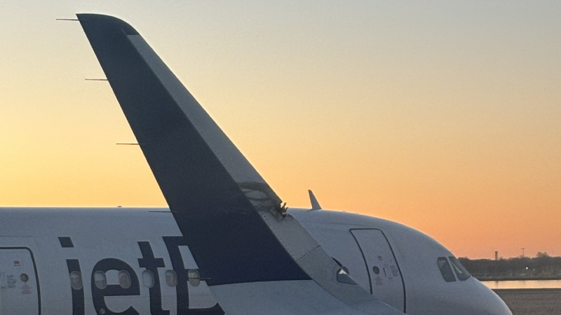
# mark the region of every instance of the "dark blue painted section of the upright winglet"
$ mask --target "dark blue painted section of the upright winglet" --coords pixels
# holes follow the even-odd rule
[[[130,43],[137,31],[78,18],[208,285],[310,279]]]

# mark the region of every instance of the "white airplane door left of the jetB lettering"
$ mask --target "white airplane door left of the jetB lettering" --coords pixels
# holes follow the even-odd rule
[[[0,248],[0,315],[39,315],[39,282],[27,248]]]

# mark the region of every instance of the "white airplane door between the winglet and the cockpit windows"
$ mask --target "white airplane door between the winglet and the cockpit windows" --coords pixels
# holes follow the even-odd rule
[[[363,253],[370,293],[391,307],[405,311],[403,278],[384,233],[375,229],[353,229],[351,233]]]

